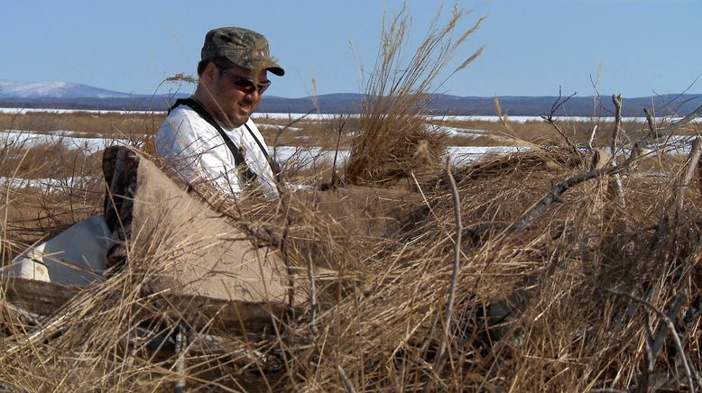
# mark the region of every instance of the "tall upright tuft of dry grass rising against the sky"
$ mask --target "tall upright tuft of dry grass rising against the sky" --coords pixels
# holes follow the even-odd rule
[[[424,109],[430,93],[439,88],[437,79],[441,72],[485,19],[479,19],[456,39],[462,12],[454,7],[442,28],[438,27],[440,15],[439,10],[426,38],[406,64],[403,50],[410,18],[401,12],[383,23],[375,66],[365,82],[367,100],[359,119],[359,132],[352,141],[346,166],[348,184],[388,184],[410,176],[408,162],[413,162],[415,171],[430,171],[440,163],[446,148],[445,135],[427,126]],[[453,73],[466,68],[480,52],[469,56]]]

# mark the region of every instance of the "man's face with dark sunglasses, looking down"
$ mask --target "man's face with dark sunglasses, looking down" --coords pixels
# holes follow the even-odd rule
[[[211,66],[216,67],[215,64]],[[219,120],[238,127],[246,123],[261,101],[263,91],[260,87],[267,87],[267,84],[270,84],[266,78],[267,72],[265,69],[254,72],[238,66],[215,71],[213,86],[210,89],[215,101],[215,109],[220,114]],[[221,115],[225,118],[221,118]]]

